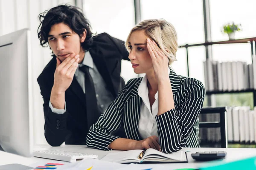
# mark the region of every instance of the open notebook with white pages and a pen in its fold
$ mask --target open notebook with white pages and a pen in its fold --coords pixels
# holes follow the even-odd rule
[[[101,160],[118,163],[181,163],[188,162],[186,152],[162,153],[155,149],[128,150],[117,153],[108,153]]]

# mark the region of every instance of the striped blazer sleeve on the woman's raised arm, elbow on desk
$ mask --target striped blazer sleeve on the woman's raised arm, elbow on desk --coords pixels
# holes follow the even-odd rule
[[[156,116],[163,153],[174,153],[184,147],[203,107],[204,85],[196,79],[186,79],[183,85],[186,88],[180,96],[179,109]]]

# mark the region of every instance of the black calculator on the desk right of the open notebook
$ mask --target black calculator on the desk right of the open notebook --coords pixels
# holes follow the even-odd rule
[[[215,159],[224,159],[226,155],[227,152],[224,151],[191,153],[192,158],[197,161],[212,161]]]

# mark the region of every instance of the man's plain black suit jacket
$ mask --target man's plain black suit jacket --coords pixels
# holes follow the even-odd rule
[[[102,33],[93,37],[93,46],[89,51],[108,90],[116,97],[124,85],[120,77],[121,60],[129,60],[124,42]],[[49,108],[55,69],[56,59],[53,57],[38,77],[38,84],[44,99],[45,138],[52,146],[59,146],[63,142],[86,144],[88,129],[95,122],[87,122],[90,120],[91,113],[87,114],[85,95],[76,77],[73,78],[73,82],[65,92],[66,112],[56,114]]]

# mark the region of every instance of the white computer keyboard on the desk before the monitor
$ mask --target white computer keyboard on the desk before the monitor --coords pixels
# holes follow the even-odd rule
[[[86,153],[76,153],[63,150],[33,150],[33,155],[35,157],[68,162],[75,162],[84,158],[98,158],[97,155],[89,155]]]

